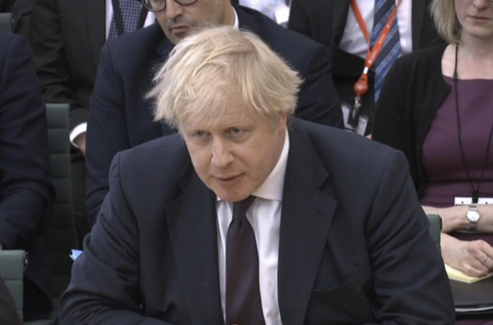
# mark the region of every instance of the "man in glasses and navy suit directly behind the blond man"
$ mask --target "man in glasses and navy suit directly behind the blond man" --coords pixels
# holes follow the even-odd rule
[[[189,1],[157,3],[167,6],[155,12],[159,25],[120,37],[102,50],[87,135],[86,204],[91,225],[108,192],[113,156],[175,132],[153,121],[153,107],[143,96],[150,88],[156,66],[166,59],[174,44],[195,28],[224,24],[252,30],[304,78],[296,116],[342,126],[331,65],[323,46],[278,26],[253,9],[233,7],[229,0],[200,0],[189,5],[180,5]]]

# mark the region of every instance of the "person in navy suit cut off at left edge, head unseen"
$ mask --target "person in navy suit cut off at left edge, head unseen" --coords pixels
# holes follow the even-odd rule
[[[46,108],[26,40],[0,30],[0,249],[28,252],[24,320],[46,318],[51,275],[43,231],[54,199]]]

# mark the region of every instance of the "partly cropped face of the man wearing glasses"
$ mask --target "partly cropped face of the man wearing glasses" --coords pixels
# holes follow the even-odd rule
[[[166,9],[155,12],[155,15],[164,34],[173,44],[203,27],[234,24],[230,0],[198,0],[187,6],[175,0],[165,1]]]

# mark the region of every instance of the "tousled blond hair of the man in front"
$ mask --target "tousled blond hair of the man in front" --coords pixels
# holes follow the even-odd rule
[[[146,97],[155,101],[155,120],[178,129],[187,117],[214,121],[231,108],[273,121],[294,114],[301,82],[256,35],[221,26],[181,40]]]

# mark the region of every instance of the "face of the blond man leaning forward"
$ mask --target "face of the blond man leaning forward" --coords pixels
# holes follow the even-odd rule
[[[221,199],[236,202],[262,185],[277,164],[286,114],[273,124],[265,117],[231,109],[214,122],[211,127],[201,116],[189,117],[180,131],[200,179]]]

